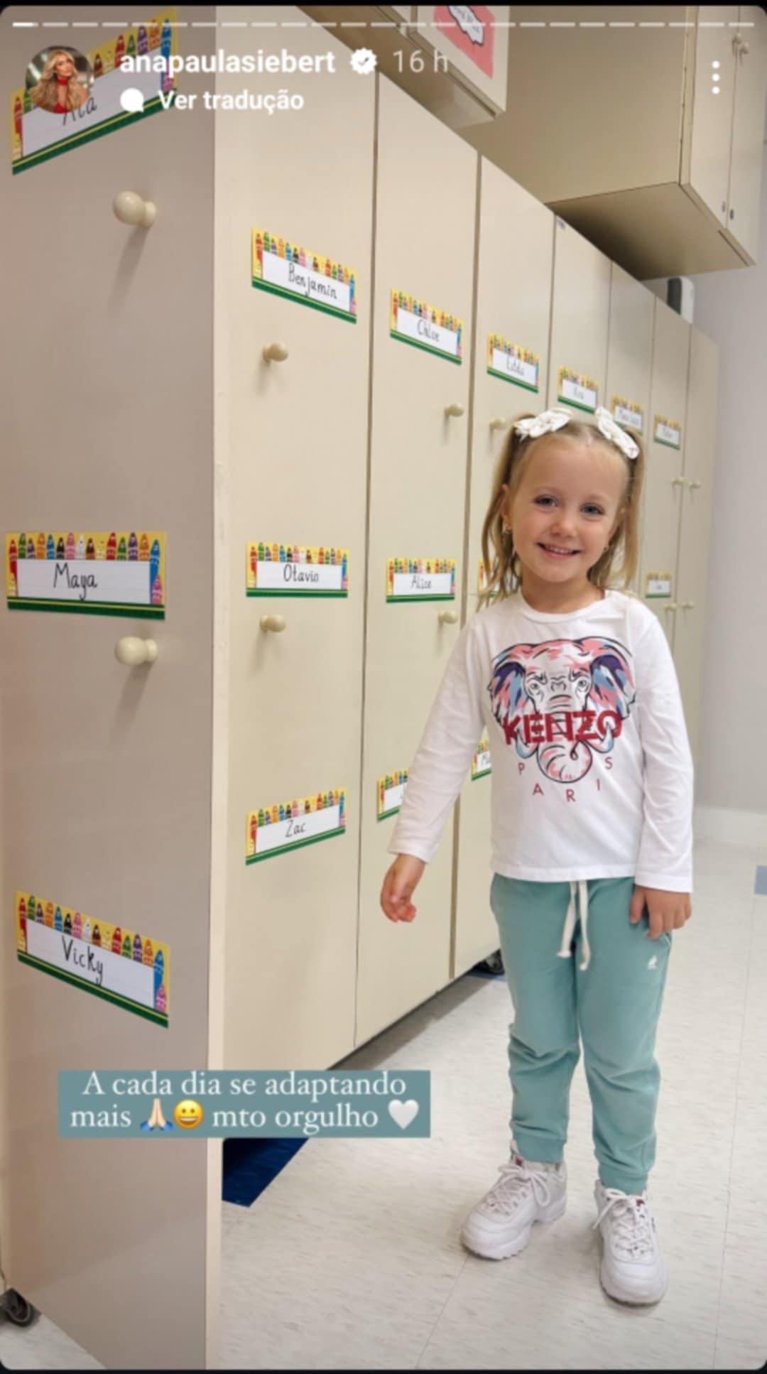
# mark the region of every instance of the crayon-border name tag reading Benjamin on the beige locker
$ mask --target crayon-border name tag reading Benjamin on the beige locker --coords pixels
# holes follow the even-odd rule
[[[253,286],[357,323],[357,276],[351,267],[261,228],[250,231],[250,247]]]

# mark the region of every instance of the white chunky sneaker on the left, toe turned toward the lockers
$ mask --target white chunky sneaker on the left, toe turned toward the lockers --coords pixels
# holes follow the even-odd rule
[[[533,1164],[513,1150],[500,1179],[469,1213],[460,1232],[467,1250],[506,1260],[525,1249],[533,1221],[555,1221],[566,1206],[565,1164]]]

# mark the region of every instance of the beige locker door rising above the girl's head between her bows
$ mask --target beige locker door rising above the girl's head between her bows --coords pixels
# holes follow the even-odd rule
[[[608,371],[608,322],[610,312],[610,260],[558,216],[554,228],[554,289],[548,365],[548,405],[564,405],[588,419],[605,405]],[[565,378],[569,392],[577,386],[580,401],[559,390],[559,370],[586,379],[597,392],[594,403],[583,386]],[[575,394],[575,393],[573,393]]]

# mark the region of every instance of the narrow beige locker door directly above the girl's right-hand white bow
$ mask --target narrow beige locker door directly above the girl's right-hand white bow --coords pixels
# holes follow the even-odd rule
[[[653,295],[628,272],[610,264],[610,335],[608,348],[608,398],[606,407],[619,423],[628,430],[636,430],[647,441],[650,407],[650,364],[653,353]],[[631,423],[632,408],[641,408]],[[642,503],[646,495],[646,480]],[[639,513],[642,517],[642,511]],[[642,548],[642,519],[639,525],[639,550]],[[631,583],[631,589],[639,591],[639,565]]]

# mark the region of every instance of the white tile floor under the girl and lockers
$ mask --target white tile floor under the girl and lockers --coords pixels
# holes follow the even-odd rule
[[[250,1209],[224,1205],[224,1369],[753,1370],[767,1356],[767,851],[696,846],[669,963],[650,1193],[664,1300],[625,1308],[601,1239],[583,1058],[568,1210],[500,1263],[463,1250],[507,1157],[506,982],[460,978],[344,1062],[430,1069],[427,1140],[309,1140]],[[384,916],[381,918],[384,919]],[[0,1325],[11,1369],[99,1369],[40,1318]]]

